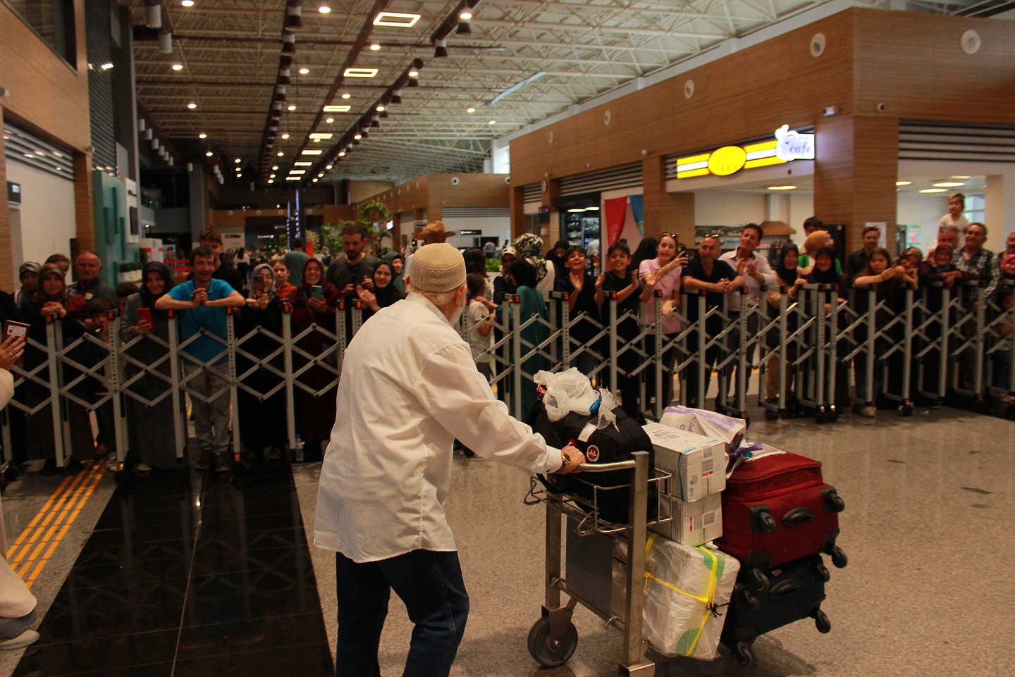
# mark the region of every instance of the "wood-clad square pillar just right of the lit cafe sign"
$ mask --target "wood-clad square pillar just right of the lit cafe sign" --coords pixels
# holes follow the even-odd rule
[[[889,251],[895,249],[898,176],[898,119],[853,116],[814,126],[814,214],[845,224],[847,254],[862,247],[864,224],[886,223]]]

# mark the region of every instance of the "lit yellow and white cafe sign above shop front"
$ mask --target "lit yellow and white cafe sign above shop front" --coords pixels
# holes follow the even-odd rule
[[[783,164],[795,159],[814,159],[814,135],[791,131],[789,125],[775,130],[775,138],[746,146],[723,146],[709,153],[677,158],[677,179],[716,175],[728,177],[741,170]]]

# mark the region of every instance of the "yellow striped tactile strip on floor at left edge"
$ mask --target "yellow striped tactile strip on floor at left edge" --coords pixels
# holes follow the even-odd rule
[[[39,578],[98,480],[106,474],[106,466],[97,461],[85,462],[82,466],[81,472],[60,483],[43,510],[7,549],[7,561],[28,588]]]

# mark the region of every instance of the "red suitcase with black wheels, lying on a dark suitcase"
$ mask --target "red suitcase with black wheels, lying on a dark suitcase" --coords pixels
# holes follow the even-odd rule
[[[767,590],[764,570],[819,552],[847,564],[835,545],[845,502],[825,484],[821,464],[797,454],[769,454],[738,466],[723,491],[719,548],[739,559],[741,576]]]

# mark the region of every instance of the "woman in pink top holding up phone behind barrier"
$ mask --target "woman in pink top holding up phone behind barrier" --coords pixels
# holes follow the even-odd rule
[[[659,239],[659,246],[656,248],[656,258],[647,259],[641,262],[638,268],[638,277],[644,288],[641,289],[642,313],[641,320],[649,328],[650,336],[646,340],[646,352],[655,354],[659,349],[659,341],[656,338],[656,289],[663,292],[663,334],[667,340],[672,340],[680,333],[680,317],[674,313],[680,308],[680,274],[683,266],[687,263],[687,255],[683,252],[677,256],[676,235],[664,232]],[[673,391],[673,358],[676,348],[669,348],[663,353],[663,401],[665,408],[670,404],[670,396]],[[656,392],[656,376],[653,369],[646,369],[646,397],[651,400]]]

